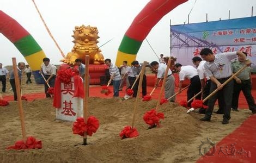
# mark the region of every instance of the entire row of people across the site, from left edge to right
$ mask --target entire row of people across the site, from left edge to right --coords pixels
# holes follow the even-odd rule
[[[164,58],[163,54],[160,55],[159,61],[148,62],[148,67],[151,71],[156,73],[155,87],[159,85],[159,82],[164,77],[164,72],[167,68],[167,61],[169,58]],[[172,63],[174,63],[175,58],[171,58]],[[175,60],[176,61],[176,60]],[[45,95],[46,97],[51,97],[47,92],[48,85],[54,87],[54,82],[56,78],[57,68],[53,64],[50,64],[49,58],[42,59],[43,64],[39,73],[45,78]],[[252,96],[252,81],[251,81],[251,61],[247,59],[247,54],[245,52],[228,52],[216,54],[212,53],[211,49],[204,48],[200,52],[200,57],[193,57],[192,63],[195,67],[191,65],[181,65],[176,63],[173,67],[169,67],[166,84],[164,85],[164,96],[169,99],[170,102],[175,102],[175,78],[173,72],[179,73],[179,88],[178,93],[181,93],[182,82],[187,78],[190,80],[190,85],[187,89],[187,101],[197,95],[196,99],[204,99],[208,97],[211,92],[218,89],[218,92],[212,95],[208,100],[204,102],[204,105],[208,106],[208,109],[200,108],[198,110],[199,114],[204,114],[201,121],[211,121],[212,112],[214,110],[215,103],[218,99],[218,110],[214,111],[216,114],[223,114],[223,124],[229,123],[231,108],[234,111],[238,110],[239,95],[243,92],[246,97],[246,101],[249,106],[249,110],[253,114],[256,113],[256,105],[254,98]],[[85,65],[82,60],[76,59],[75,65],[78,66],[77,71],[80,76],[84,79]],[[138,79],[139,74],[142,70],[142,64],[137,60],[131,62],[131,66],[127,61],[123,61],[123,65],[116,66],[111,62],[111,59],[105,59],[105,65],[107,65],[111,80],[108,82],[113,83],[113,96],[118,97],[119,91],[122,91],[124,85],[126,89],[133,90],[133,97],[137,96],[138,90]],[[237,74],[232,80],[230,77],[239,71],[244,66],[245,69],[241,73]],[[25,69],[22,73],[22,70]],[[19,74],[19,79],[21,80],[22,74],[26,73],[27,81],[26,83],[32,83],[31,81],[31,68],[29,65],[25,65],[24,62],[19,62],[17,65],[17,70]],[[0,63],[0,80],[2,82],[2,92],[6,90],[6,80],[9,79],[10,85],[14,92],[14,100],[17,101],[16,87],[14,73],[7,70],[7,68],[2,67]],[[226,82],[229,80],[228,82]],[[225,84],[223,84],[225,83]],[[145,74],[143,75],[142,82],[142,97],[147,95],[147,78]],[[230,96],[232,95],[232,96]],[[172,98],[169,98],[172,97]],[[188,102],[188,107],[191,107],[191,102]]]

